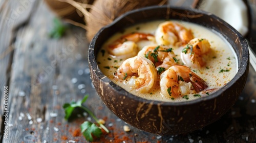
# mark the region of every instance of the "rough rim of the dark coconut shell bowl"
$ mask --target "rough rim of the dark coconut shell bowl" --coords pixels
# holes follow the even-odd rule
[[[238,55],[237,51],[237,47],[233,47],[232,46],[232,49],[234,50],[236,56],[237,56],[237,62],[238,62],[238,70],[237,70],[237,73],[236,75],[232,78],[231,81],[229,81],[226,85],[224,85],[223,87],[221,87],[220,89],[218,89],[217,91],[215,91],[214,93],[210,94],[209,96],[205,96],[205,97],[200,97],[198,99],[193,99],[193,100],[188,100],[188,101],[182,101],[182,102],[164,102],[164,101],[157,101],[157,100],[148,100],[148,99],[144,99],[144,98],[141,98],[141,97],[138,97],[138,96],[135,96],[134,94],[124,90],[123,88],[121,88],[120,86],[116,85],[114,82],[112,82],[108,77],[105,77],[104,80],[102,79],[99,79],[100,81],[102,82],[109,82],[111,87],[113,88],[113,90],[115,90],[118,94],[123,94],[124,96],[126,96],[126,98],[130,98],[132,100],[136,100],[138,102],[143,102],[143,103],[150,103],[150,104],[153,104],[153,105],[158,105],[158,104],[161,104],[161,106],[184,106],[184,105],[191,105],[191,104],[198,104],[198,103],[201,103],[201,102],[204,102],[204,101],[208,101],[208,100],[212,100],[212,99],[215,99],[219,96],[221,96],[221,94],[225,91],[225,90],[228,90],[230,89],[230,87],[236,83],[237,81],[239,81],[241,79],[241,77],[245,74],[246,72],[246,69],[248,68],[249,64],[249,51],[248,51],[248,43],[246,42],[246,39],[242,36],[242,34],[240,34],[236,29],[234,29],[232,26],[230,26],[227,22],[225,22],[224,20],[222,20],[221,18],[219,18],[218,16],[214,15],[214,14],[211,14],[211,13],[208,13],[208,12],[205,12],[205,11],[201,11],[201,10],[198,10],[198,9],[191,9],[191,8],[183,8],[183,7],[174,7],[174,6],[168,6],[168,5],[164,5],[164,6],[149,6],[149,7],[144,7],[144,8],[140,8],[140,9],[136,9],[136,10],[132,10],[132,11],[129,11],[129,12],[126,12],[124,14],[122,14],[121,16],[119,16],[118,18],[116,18],[112,23],[110,23],[109,25],[107,26],[104,26],[103,28],[101,28],[97,33],[96,35],[93,37],[93,39],[91,40],[90,42],[90,46],[89,46],[89,51],[88,51],[88,58],[89,58],[89,66],[91,65],[93,68],[91,70],[91,72],[94,72],[97,77],[100,77],[102,75],[104,75],[102,73],[102,71],[100,70],[100,68],[98,67],[98,64],[96,62],[96,55],[94,54],[95,50],[94,50],[94,47],[95,47],[95,44],[97,42],[97,38],[100,36],[100,34],[102,33],[102,31],[104,31],[105,29],[109,29],[111,27],[113,27],[114,25],[116,25],[116,23],[118,21],[121,21],[121,20],[125,20],[125,17],[129,17],[129,15],[131,14],[134,14],[134,13],[138,13],[138,12],[143,12],[143,11],[147,11],[147,10],[158,10],[158,9],[166,9],[166,10],[183,10],[183,11],[190,11],[190,12],[195,12],[197,14],[203,14],[203,15],[206,15],[206,16],[209,16],[210,18],[212,19],[217,19],[218,22],[221,24],[221,25],[224,25],[226,28],[228,28],[229,30],[231,30],[233,33],[236,34],[236,37],[239,39],[240,43],[241,43],[241,46],[242,46],[242,49],[241,49],[241,52],[239,53],[240,55]],[[171,17],[171,16],[170,16]],[[184,17],[187,17],[184,15]],[[159,18],[158,20],[164,20],[164,18]],[[157,19],[152,19],[153,20],[157,20]],[[168,19],[168,20],[171,20],[171,19]],[[133,24],[131,24],[130,26],[133,26],[135,24],[138,24],[138,23],[141,23],[141,22],[145,22],[145,21],[140,21],[140,22],[135,22]],[[189,22],[189,21],[188,21]],[[191,22],[191,23],[195,23],[195,22]],[[198,23],[196,23],[197,25],[199,25]],[[203,25],[200,25],[200,26],[203,26]],[[203,26],[205,27],[205,26]],[[207,27],[205,27],[207,28]],[[208,28],[207,28],[208,29]],[[216,30],[215,29],[215,32],[217,32],[216,34],[221,34],[220,31]],[[221,34],[222,35],[222,34]],[[223,36],[225,37],[225,36]],[[228,36],[225,37],[226,40],[228,40]],[[108,38],[106,38],[107,40]],[[239,43],[237,43],[239,44]],[[91,54],[93,53],[93,54]],[[93,60],[94,59],[94,60]],[[241,64],[241,63],[244,63],[244,64]],[[93,71],[94,70],[94,71]],[[95,71],[98,71],[98,72],[95,72]],[[91,73],[92,74],[92,73]],[[246,82],[247,78],[245,79],[244,82]],[[114,86],[113,86],[114,85]],[[116,88],[120,88],[120,90],[116,89]],[[240,96],[241,93],[239,93],[238,96]],[[238,97],[237,96],[237,97]]]

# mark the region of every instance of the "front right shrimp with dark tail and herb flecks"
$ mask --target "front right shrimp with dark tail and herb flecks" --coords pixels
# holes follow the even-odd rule
[[[184,94],[200,92],[207,87],[202,78],[184,65],[171,66],[160,76],[161,94],[170,98],[176,99]]]

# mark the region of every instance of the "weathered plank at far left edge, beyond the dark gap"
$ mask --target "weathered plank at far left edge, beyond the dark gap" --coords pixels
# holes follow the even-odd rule
[[[12,3],[10,1],[0,2],[0,114],[4,114],[4,87],[9,87],[10,71],[12,66],[13,58],[13,46],[12,41],[14,40],[15,27],[19,23],[23,23],[28,18],[30,14],[30,7],[20,6],[20,1]],[[22,2],[23,3],[23,2]],[[23,3],[24,4],[24,3]],[[28,5],[29,6],[29,5]],[[10,88],[8,88],[10,91]],[[9,107],[9,106],[8,106]],[[6,118],[2,116],[5,120]],[[0,119],[1,127],[1,139],[3,139],[3,130],[6,127],[5,123],[2,123],[2,118]],[[3,126],[4,125],[4,126]]]

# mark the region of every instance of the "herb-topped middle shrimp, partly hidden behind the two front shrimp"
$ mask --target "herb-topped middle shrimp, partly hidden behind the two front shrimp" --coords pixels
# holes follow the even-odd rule
[[[178,60],[176,59],[173,49],[166,45],[144,46],[138,55],[150,59],[155,64],[158,75],[170,66],[178,64]]]

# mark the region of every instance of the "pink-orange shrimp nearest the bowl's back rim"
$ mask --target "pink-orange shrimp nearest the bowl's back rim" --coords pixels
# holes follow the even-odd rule
[[[187,30],[179,23],[171,21],[160,23],[155,35],[156,42],[164,45],[185,44],[194,38],[191,30]]]

